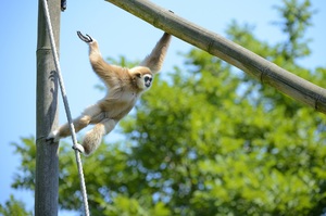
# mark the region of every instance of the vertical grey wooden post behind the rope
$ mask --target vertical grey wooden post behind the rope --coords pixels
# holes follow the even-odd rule
[[[60,0],[48,1],[57,46],[60,35]],[[59,50],[59,48],[57,48]],[[57,216],[59,200],[58,143],[46,141],[48,134],[58,126],[58,76],[51,51],[50,38],[42,1],[38,3],[37,39],[37,97],[36,97],[36,186],[35,215]]]

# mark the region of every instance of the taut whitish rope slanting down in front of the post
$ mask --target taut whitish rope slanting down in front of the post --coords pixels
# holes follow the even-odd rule
[[[79,154],[78,150],[76,150],[76,148],[75,148],[76,144],[77,144],[76,132],[75,132],[75,127],[74,127],[74,124],[73,124],[73,120],[72,120],[72,114],[71,114],[70,106],[68,106],[68,102],[67,102],[67,96],[65,93],[65,88],[64,88],[64,85],[63,85],[63,78],[61,76],[59,58],[58,58],[58,52],[57,52],[57,47],[55,47],[55,41],[54,41],[54,36],[53,36],[53,30],[52,30],[52,25],[51,25],[51,20],[50,20],[49,7],[48,7],[47,0],[43,0],[42,2],[43,2],[43,9],[45,9],[45,16],[46,16],[46,20],[47,20],[48,31],[49,31],[49,35],[50,35],[52,54],[53,54],[53,58],[54,58],[54,64],[55,64],[55,68],[57,68],[58,77],[59,77],[61,94],[62,94],[62,99],[63,99],[63,103],[64,103],[64,109],[65,109],[67,122],[70,124],[70,128],[71,128],[71,131],[72,131],[73,147],[75,149],[76,162],[77,162],[77,166],[78,166],[78,174],[79,174],[79,179],[80,179],[80,189],[82,189],[82,194],[83,194],[85,215],[89,216],[85,178],[84,178],[84,173],[83,173],[83,164],[82,164],[82,160],[80,160],[80,154]]]

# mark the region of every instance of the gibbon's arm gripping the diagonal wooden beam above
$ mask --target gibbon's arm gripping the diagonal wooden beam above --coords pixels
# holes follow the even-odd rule
[[[163,65],[170,41],[171,35],[164,33],[152,52],[140,63],[140,66],[149,67],[153,74],[158,73]]]

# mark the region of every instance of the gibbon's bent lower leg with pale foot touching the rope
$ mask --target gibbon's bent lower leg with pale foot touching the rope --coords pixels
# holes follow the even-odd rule
[[[83,141],[84,153],[86,155],[91,154],[100,145],[104,135],[111,132],[117,122],[114,119],[103,119],[96,124],[96,126],[89,130]]]

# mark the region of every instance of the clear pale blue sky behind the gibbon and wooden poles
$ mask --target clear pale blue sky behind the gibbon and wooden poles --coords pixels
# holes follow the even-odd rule
[[[202,0],[175,1],[154,0],[154,3],[174,11],[204,28],[225,35],[233,20],[255,26],[254,34],[267,42],[283,40],[284,37],[272,25],[279,18],[272,5],[280,0]],[[306,67],[326,67],[326,1],[314,0],[313,8],[318,11],[313,17],[314,26],[308,31],[312,38],[312,55],[301,64]],[[5,4],[5,5],[4,5]],[[0,151],[0,203],[11,193],[25,201],[33,208],[30,192],[12,190],[14,173],[20,166],[18,155],[13,154],[12,142],[21,137],[35,136],[36,128],[36,42],[37,42],[37,1],[5,1],[0,13],[0,58],[1,77],[1,151]],[[148,23],[128,14],[105,1],[67,0],[67,10],[61,15],[60,60],[61,69],[70,100],[72,115],[77,116],[84,107],[101,99],[104,92],[95,89],[99,79],[92,73],[87,56],[87,46],[82,42],[76,30],[91,35],[99,41],[104,58],[141,60],[153,48],[162,31]],[[184,59],[178,52],[187,52],[192,46],[173,38],[162,73],[171,72],[174,65],[181,66]],[[60,103],[61,98],[60,98]],[[60,107],[60,124],[65,122],[63,106]],[[109,135],[108,140],[114,140]],[[70,141],[70,140],[67,140]],[[72,151],[73,153],[73,151]],[[86,177],[87,178],[87,177]]]

